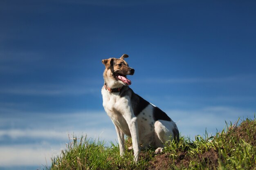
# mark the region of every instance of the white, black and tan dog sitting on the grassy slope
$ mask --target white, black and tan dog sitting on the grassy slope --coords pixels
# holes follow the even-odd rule
[[[120,58],[102,60],[105,71],[101,94],[103,107],[117,131],[120,155],[124,155],[124,135],[127,135],[132,138],[134,161],[137,162],[140,144],[156,148],[155,154],[159,154],[166,141],[179,141],[179,130],[166,113],[129,87],[131,81],[126,75],[133,75],[135,70],[124,60],[127,57],[124,54]]]

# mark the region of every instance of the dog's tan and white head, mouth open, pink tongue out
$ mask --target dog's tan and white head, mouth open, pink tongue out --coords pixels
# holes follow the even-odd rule
[[[130,68],[124,58],[128,55],[124,54],[120,58],[109,58],[102,60],[105,65],[103,76],[108,81],[115,81],[115,84],[130,85],[132,82],[126,78],[126,75],[133,75],[134,69]]]

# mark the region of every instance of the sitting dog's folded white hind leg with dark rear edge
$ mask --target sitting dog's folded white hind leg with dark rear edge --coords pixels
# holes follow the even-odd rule
[[[179,131],[173,121],[158,120],[155,121],[156,147],[155,154],[159,154],[164,149],[164,144],[170,144],[170,139],[179,141]]]

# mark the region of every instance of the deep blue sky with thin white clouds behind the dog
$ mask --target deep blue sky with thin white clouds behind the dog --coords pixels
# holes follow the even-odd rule
[[[135,68],[130,87],[182,135],[253,118],[255,8],[250,0],[2,0],[0,169],[50,165],[73,134],[115,141],[101,60],[124,53]]]

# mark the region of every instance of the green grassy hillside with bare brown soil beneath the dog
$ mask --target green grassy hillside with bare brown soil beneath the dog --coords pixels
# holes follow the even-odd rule
[[[142,151],[134,163],[131,140],[126,139],[126,153],[119,156],[119,147],[87,137],[74,137],[61,155],[52,158],[46,170],[256,170],[256,119],[240,121],[239,126],[229,124],[222,132],[209,137],[196,136],[195,140],[180,137],[171,142],[164,152]]]

